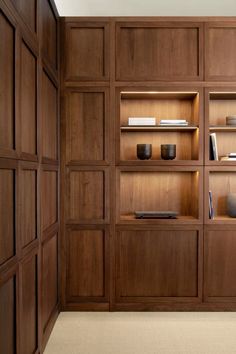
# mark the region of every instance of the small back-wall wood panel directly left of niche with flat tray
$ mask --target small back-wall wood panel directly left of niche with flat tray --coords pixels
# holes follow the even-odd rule
[[[69,172],[68,218],[98,221],[105,218],[105,176],[103,171]]]

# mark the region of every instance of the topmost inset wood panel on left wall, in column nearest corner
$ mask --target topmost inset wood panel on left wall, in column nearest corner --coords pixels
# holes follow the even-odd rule
[[[54,70],[57,70],[57,19],[50,0],[41,0],[42,54]]]

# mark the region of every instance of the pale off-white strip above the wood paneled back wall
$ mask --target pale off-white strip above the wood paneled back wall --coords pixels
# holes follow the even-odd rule
[[[234,16],[234,0],[56,0],[60,16]]]

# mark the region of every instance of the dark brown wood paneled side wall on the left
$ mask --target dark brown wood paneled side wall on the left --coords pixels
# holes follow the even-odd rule
[[[42,353],[58,314],[58,14],[0,0],[0,353]]]

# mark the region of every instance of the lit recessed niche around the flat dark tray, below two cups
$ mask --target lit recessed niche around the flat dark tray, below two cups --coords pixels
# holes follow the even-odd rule
[[[201,172],[187,170],[122,170],[118,172],[122,223],[197,223],[201,218]],[[135,211],[175,211],[177,219],[136,219]]]

